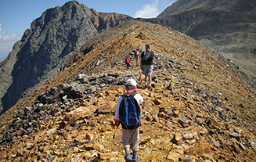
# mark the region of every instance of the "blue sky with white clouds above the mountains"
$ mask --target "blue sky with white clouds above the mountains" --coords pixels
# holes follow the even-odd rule
[[[152,18],[176,0],[77,0],[102,13],[121,13]],[[0,61],[13,49],[31,22],[46,9],[64,5],[67,0],[0,0]]]

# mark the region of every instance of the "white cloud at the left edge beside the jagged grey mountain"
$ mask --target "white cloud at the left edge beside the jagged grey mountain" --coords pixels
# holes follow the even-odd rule
[[[0,61],[8,56],[18,40],[20,40],[19,34],[8,34],[8,31],[2,31],[2,23],[0,23]]]

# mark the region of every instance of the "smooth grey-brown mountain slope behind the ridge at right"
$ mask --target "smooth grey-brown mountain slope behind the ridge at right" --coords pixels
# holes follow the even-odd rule
[[[255,1],[178,0],[148,21],[172,27],[220,52],[255,87]]]

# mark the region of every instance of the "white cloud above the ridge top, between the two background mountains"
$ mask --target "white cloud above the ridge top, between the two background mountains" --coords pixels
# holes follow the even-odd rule
[[[160,11],[157,9],[158,0],[151,4],[146,4],[142,6],[142,9],[139,9],[134,15],[135,18],[153,18],[157,17],[160,14]]]

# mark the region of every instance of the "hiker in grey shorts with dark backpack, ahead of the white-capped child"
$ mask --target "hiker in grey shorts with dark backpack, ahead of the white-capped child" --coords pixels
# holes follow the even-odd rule
[[[152,71],[153,71],[153,51],[150,50],[150,45],[146,45],[146,51],[142,52],[140,59],[140,68],[142,74],[145,75],[145,88],[152,89]]]

